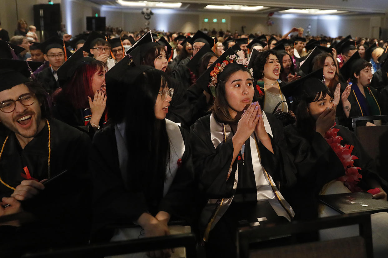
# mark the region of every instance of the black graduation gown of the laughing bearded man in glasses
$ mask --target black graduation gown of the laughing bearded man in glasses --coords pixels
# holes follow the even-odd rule
[[[6,235],[0,244],[3,255],[16,255],[26,250],[46,249],[65,245],[86,244],[90,234],[90,178],[87,163],[90,138],[59,120],[50,119],[50,178],[68,169],[35,198],[23,201],[25,211],[36,220]],[[0,160],[0,176],[16,187],[25,180],[23,167],[39,181],[48,178],[48,126],[42,129],[24,149],[15,133],[10,133]],[[4,142],[5,137],[0,137]],[[13,190],[0,183],[0,197]],[[0,227],[1,228],[1,227]],[[3,253],[5,251],[5,253]]]

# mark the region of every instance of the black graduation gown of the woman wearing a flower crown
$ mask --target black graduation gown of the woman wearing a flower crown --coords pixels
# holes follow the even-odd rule
[[[277,188],[282,192],[284,185],[290,187],[295,183],[294,167],[288,154],[284,151],[283,126],[272,114],[268,114],[272,134],[270,136],[274,154],[259,143],[262,166],[272,176]],[[199,182],[198,210],[201,211],[208,199],[230,198],[233,195],[234,177],[239,166],[236,192],[230,207],[215,227],[210,231],[207,253],[219,257],[236,257],[236,229],[238,220],[252,212],[257,203],[255,174],[251,160],[249,139],[245,142],[244,165],[242,159],[236,158],[232,165],[232,172],[227,179],[233,156],[233,143],[229,138],[214,148],[210,133],[210,114],[200,118],[191,127],[191,145],[193,162],[196,169],[196,179]],[[241,152],[239,154],[241,156]],[[203,224],[203,223],[200,223]],[[203,231],[200,225],[200,231]],[[203,232],[201,232],[203,234]],[[224,246],[219,249],[220,244]],[[216,251],[218,250],[218,251]],[[222,252],[222,253],[221,253]],[[213,256],[211,256],[213,257]]]

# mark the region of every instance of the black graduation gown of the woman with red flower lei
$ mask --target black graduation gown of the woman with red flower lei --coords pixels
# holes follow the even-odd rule
[[[359,159],[354,166],[361,167],[362,174],[359,186],[369,190],[367,181],[377,180],[381,186],[387,187],[386,182],[376,173],[373,159],[365,152],[359,140],[348,128],[336,125],[340,129],[338,135],[343,138],[341,145],[353,145],[352,155]],[[314,219],[318,216],[318,195],[322,187],[330,181],[345,175],[345,169],[333,149],[317,132],[302,132],[295,125],[284,128],[289,151],[294,155],[294,165],[297,169],[297,184],[286,189],[284,197],[295,211],[295,219]]]

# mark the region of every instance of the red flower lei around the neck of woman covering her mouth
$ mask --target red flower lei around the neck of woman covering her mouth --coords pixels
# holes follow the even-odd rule
[[[336,124],[334,123],[334,126],[335,125]],[[345,176],[341,176],[338,180],[342,181],[343,184],[352,192],[362,191],[361,188],[357,186],[362,178],[362,175],[359,173],[359,169],[361,170],[361,167],[353,166],[354,160],[359,159],[357,156],[352,155],[354,146],[348,144],[345,146],[341,145],[343,138],[337,135],[340,129],[336,129],[334,126],[325,133],[325,140],[330,145],[331,149],[334,150],[345,169]]]

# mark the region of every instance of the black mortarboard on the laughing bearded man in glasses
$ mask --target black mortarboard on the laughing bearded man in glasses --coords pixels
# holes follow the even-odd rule
[[[28,82],[31,76],[29,67],[34,72],[41,65],[41,62],[28,61],[27,65],[27,61],[0,58],[0,91]]]

